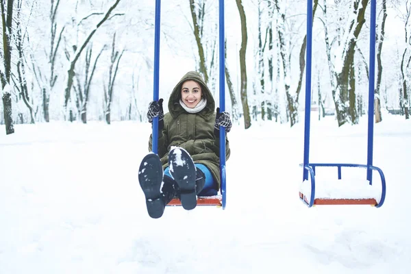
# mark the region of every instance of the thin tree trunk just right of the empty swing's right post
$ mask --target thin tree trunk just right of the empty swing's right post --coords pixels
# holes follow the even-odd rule
[[[380,97],[380,90],[381,90],[381,82],[382,82],[382,43],[384,42],[385,36],[385,23],[387,18],[387,3],[386,0],[382,0],[382,23],[381,27],[379,27],[379,40],[377,46],[377,83],[375,86],[375,123],[379,123],[382,121],[382,113],[381,113],[381,102],[379,101]]]

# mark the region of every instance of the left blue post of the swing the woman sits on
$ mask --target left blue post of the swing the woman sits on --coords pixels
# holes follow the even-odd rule
[[[160,66],[160,7],[161,0],[155,0],[155,25],[154,25],[154,90],[153,101],[158,101],[158,82]],[[153,153],[158,153],[158,117],[153,119]]]

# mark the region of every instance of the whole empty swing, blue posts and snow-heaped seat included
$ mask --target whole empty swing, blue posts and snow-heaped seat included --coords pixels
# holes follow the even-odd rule
[[[311,58],[312,58],[312,0],[307,1],[307,66],[306,66],[306,110],[304,128],[304,158],[303,158],[303,182],[299,190],[299,197],[311,208],[316,205],[370,205],[379,208],[383,205],[386,196],[386,180],[381,169],[373,166],[373,115],[374,115],[374,79],[375,79],[375,6],[376,1],[371,0],[371,26],[370,26],[370,72],[369,72],[369,110],[368,110],[368,145],[366,164],[327,164],[310,163],[310,107],[311,107]],[[316,184],[316,167],[334,167],[337,169],[337,190],[351,186],[354,189],[345,189],[344,193],[333,192],[333,188],[327,189],[327,184]],[[366,169],[368,186],[362,186],[361,191],[356,191],[354,184],[342,184],[342,169],[361,168]],[[377,171],[381,178],[381,193],[376,195],[372,188],[373,171]],[[310,182],[308,181],[310,173]],[[352,183],[352,182],[351,182]],[[329,186],[329,185],[328,185]],[[351,192],[350,192],[351,190]]]

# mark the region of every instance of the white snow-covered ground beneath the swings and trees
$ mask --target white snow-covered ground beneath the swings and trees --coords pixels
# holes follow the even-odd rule
[[[338,128],[334,117],[313,115],[310,161],[366,164],[365,119]],[[411,121],[403,117],[384,114],[375,125],[382,208],[307,208],[303,123],[267,122],[228,134],[225,210],[167,207],[161,219],[147,214],[137,180],[148,123],[15,128],[5,136],[0,127],[1,274],[411,273]],[[345,179],[365,176],[343,170]]]

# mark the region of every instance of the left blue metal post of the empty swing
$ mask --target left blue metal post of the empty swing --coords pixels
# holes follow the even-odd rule
[[[304,161],[306,166],[310,153],[310,114],[311,114],[311,55],[312,55],[312,0],[307,0],[307,51],[306,51],[306,118],[304,126]],[[308,179],[308,170],[303,168],[303,180]]]

